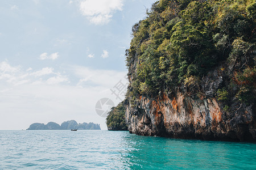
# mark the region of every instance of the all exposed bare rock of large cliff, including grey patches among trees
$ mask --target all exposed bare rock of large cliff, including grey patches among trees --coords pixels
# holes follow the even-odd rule
[[[136,72],[136,57],[129,70]],[[200,81],[201,96],[189,87],[177,87],[171,94],[138,96],[135,104],[125,101],[126,124],[130,133],[171,138],[221,141],[256,141],[255,104],[241,103],[229,96],[229,109],[216,98],[217,89],[225,86],[232,75],[220,65]],[[234,73],[233,73],[234,74]],[[192,88],[191,88],[192,89]],[[236,87],[234,87],[234,91]],[[197,93],[199,94],[199,93]]]

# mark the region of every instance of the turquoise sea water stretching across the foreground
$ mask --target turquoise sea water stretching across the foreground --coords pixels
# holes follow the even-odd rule
[[[0,169],[256,169],[256,144],[127,131],[0,131]]]

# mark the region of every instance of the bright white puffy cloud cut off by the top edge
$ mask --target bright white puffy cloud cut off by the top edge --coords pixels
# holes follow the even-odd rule
[[[123,0],[85,0],[80,3],[80,11],[93,24],[109,23],[115,11],[122,11]]]

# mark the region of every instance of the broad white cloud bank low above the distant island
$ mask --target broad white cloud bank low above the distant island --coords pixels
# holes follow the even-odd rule
[[[104,97],[115,105],[120,102],[110,89],[126,72],[82,66],[63,69],[61,74],[51,67],[31,71],[0,62],[0,129],[26,129],[34,122],[61,124],[72,119],[98,123],[106,129],[105,118],[98,116],[95,105]]]

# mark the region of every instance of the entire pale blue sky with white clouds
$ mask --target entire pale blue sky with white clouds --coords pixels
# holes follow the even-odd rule
[[[153,0],[1,0],[0,130],[94,122],[124,99],[131,27]]]

